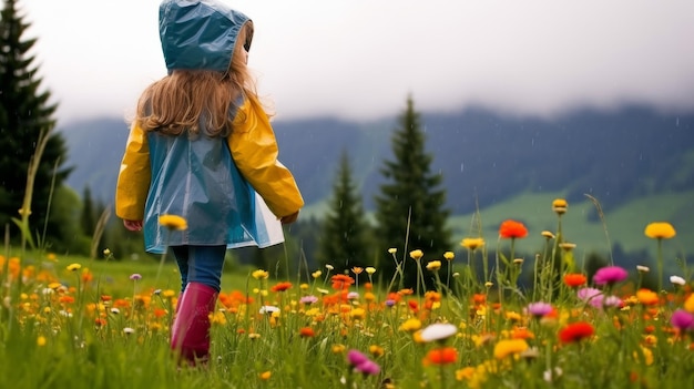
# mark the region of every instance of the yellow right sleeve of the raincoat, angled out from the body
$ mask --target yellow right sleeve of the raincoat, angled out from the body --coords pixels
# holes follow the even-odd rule
[[[275,133],[255,98],[238,109],[227,142],[236,167],[275,216],[293,215],[304,206],[292,172],[277,161]]]

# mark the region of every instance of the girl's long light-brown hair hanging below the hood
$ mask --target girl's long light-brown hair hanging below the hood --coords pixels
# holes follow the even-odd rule
[[[236,47],[226,73],[206,70],[174,70],[152,83],[137,102],[135,121],[144,131],[167,135],[188,134],[226,136],[233,131],[231,112],[246,95],[257,96],[255,81],[245,63],[244,43],[253,34],[246,22],[236,38]]]

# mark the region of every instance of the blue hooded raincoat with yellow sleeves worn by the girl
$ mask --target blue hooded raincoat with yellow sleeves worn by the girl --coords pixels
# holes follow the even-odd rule
[[[165,0],[160,35],[170,72],[175,69],[225,72],[238,31],[251,20],[215,1]],[[249,45],[249,41],[245,42]],[[294,176],[278,160],[273,127],[259,102],[244,96],[233,112],[226,139],[130,131],[116,184],[115,213],[144,221],[145,249],[166,246],[255,245],[283,242],[277,218],[304,205]],[[267,217],[269,209],[274,217]],[[161,215],[186,219],[184,231],[159,224]],[[279,228],[279,229],[278,229]],[[274,232],[274,233],[273,233]]]

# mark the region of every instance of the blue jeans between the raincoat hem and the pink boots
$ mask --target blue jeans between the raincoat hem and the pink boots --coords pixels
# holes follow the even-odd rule
[[[188,283],[222,289],[222,270],[226,246],[171,246],[181,272],[181,291]]]

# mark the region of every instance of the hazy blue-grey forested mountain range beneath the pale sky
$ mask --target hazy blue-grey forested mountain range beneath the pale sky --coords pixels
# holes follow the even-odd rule
[[[331,194],[343,150],[349,153],[367,209],[391,158],[395,117],[349,122],[329,117],[277,121],[279,157],[294,172],[307,204]],[[443,175],[448,206],[467,214],[523,191],[589,193],[610,207],[640,196],[694,188],[694,113],[663,114],[643,106],[583,110],[554,120],[514,119],[483,109],[423,112],[432,171]],[[123,120],[79,121],[60,129],[69,146],[68,184],[113,199],[127,139]]]

